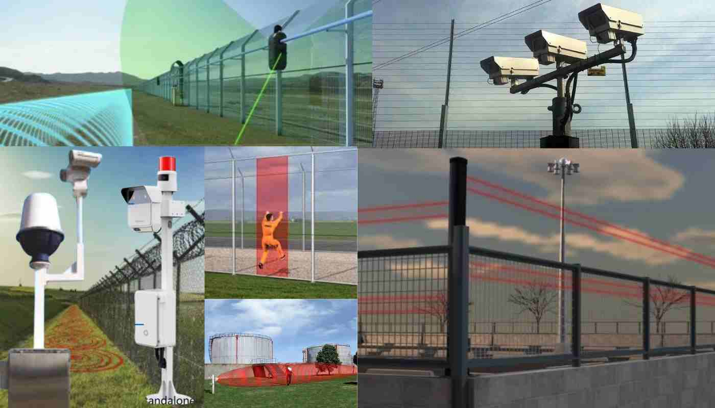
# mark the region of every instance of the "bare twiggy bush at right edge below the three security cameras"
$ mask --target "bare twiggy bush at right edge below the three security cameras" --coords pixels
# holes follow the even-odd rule
[[[656,147],[704,148],[715,147],[715,115],[704,115],[693,119],[679,119],[668,122],[664,134],[657,136]]]

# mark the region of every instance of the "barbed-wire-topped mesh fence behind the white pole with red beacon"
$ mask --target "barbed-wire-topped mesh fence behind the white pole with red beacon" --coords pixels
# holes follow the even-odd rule
[[[177,292],[177,342],[174,384],[178,392],[203,401],[204,377],[204,212],[202,201],[187,205],[187,215],[175,220],[174,290]],[[79,307],[107,337],[159,386],[161,369],[154,350],[134,342],[134,292],[161,287],[161,243],[151,242],[124,258],[120,266],[94,284],[79,299]]]

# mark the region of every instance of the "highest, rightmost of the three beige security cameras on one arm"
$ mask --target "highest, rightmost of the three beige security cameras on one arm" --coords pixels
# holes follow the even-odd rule
[[[598,3],[578,13],[578,20],[596,37],[598,44],[625,39],[633,41],[644,34],[643,16]]]

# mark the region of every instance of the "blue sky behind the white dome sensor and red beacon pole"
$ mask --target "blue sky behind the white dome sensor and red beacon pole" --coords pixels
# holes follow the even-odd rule
[[[87,147],[103,155],[92,170],[89,193],[84,201],[84,282],[50,283],[48,287],[87,289],[152,239],[151,234],[133,232],[127,225],[127,204],[119,190],[126,186],[156,185],[159,156],[176,156],[179,191],[177,200],[191,203],[204,196],[203,149],[196,147]],[[22,203],[34,192],[52,194],[59,205],[65,238],[50,258],[50,273],[64,272],[74,262],[75,204],[71,184],[59,180],[59,170],[67,166],[69,148],[5,147],[0,149],[0,171],[4,174],[0,199],[0,249],[4,254],[0,285],[33,285],[29,257],[16,242]],[[203,205],[203,204],[202,204]],[[199,209],[202,209],[202,205]]]

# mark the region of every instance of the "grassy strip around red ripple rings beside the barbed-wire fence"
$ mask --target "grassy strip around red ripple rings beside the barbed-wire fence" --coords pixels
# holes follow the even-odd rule
[[[68,320],[68,318],[70,319]],[[82,339],[93,337],[106,341],[106,344],[97,349],[98,354],[94,358],[84,355],[82,358],[73,359],[73,368],[70,373],[71,407],[146,407],[147,402],[144,397],[147,394],[157,392],[156,387],[149,384],[149,379],[142,372],[139,372],[139,369],[117,347],[114,347],[114,344],[104,336],[104,333],[78,307],[73,306],[66,309],[59,316],[52,319],[46,325],[46,339],[51,339],[54,334],[62,332],[63,326],[67,324],[72,324],[73,326],[82,324],[86,330],[86,332],[83,332]],[[17,347],[32,347],[32,338],[26,339],[18,344]],[[78,367],[82,367],[82,364],[87,364],[86,360],[89,360],[89,362],[101,362],[102,358],[107,356],[112,356],[112,359],[114,359],[111,369],[89,372],[76,371]],[[0,355],[2,359],[6,357],[7,352],[3,352]],[[119,358],[123,360],[123,363],[117,367]],[[0,408],[7,406],[7,391],[0,390]]]

